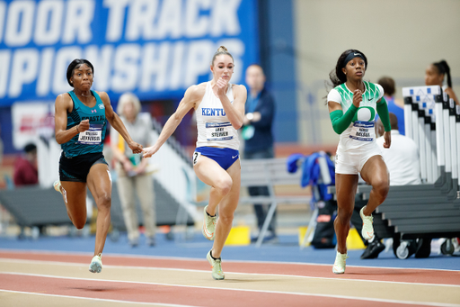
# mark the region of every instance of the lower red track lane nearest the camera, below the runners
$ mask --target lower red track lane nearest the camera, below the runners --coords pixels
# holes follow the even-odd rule
[[[78,296],[128,302],[156,302],[192,306],[411,306],[391,302],[369,302],[322,296],[244,292],[182,287],[175,285],[111,283],[0,273],[0,289],[29,293]],[[218,283],[218,282],[217,282]],[[414,304],[413,306],[416,306]]]

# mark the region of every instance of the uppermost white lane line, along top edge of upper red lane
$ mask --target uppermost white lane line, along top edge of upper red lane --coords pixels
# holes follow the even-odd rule
[[[12,252],[20,253],[25,255],[40,254],[40,255],[53,255],[53,256],[93,256],[93,253],[88,252],[66,252],[66,251],[54,251],[54,250],[23,250],[13,248],[0,248],[1,252]],[[135,255],[135,254],[116,254],[116,253],[104,253],[104,257],[132,257],[137,259],[153,259],[153,260],[179,260],[179,261],[206,261],[205,257],[202,258],[191,258],[191,257],[165,257],[165,256],[147,256],[147,255]],[[1,257],[0,257],[1,258]],[[333,259],[333,258],[332,258]],[[263,260],[226,260],[226,263],[247,263],[247,264],[268,264],[268,265],[296,265],[296,266],[332,266],[331,264],[314,263],[314,262],[285,262],[285,261],[263,261]],[[347,267],[365,267],[365,268],[382,268],[392,270],[415,270],[415,271],[447,271],[447,272],[460,272],[458,269],[447,269],[447,268],[427,268],[427,267],[393,267],[393,266],[351,266]]]

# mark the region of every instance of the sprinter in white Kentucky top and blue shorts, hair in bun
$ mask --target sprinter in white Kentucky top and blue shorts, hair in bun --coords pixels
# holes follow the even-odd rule
[[[247,91],[244,86],[230,84],[234,59],[221,46],[210,66],[213,78],[209,82],[190,86],[177,110],[164,124],[154,146],[143,150],[152,157],[173,134],[191,108],[197,113],[198,140],[193,153],[193,169],[199,179],[211,185],[209,203],[204,209],[203,235],[214,240],[207,258],[214,279],[224,279],[220,254],[232,229],[234,211],[238,205],[241,166],[237,130],[243,125]],[[217,222],[218,205],[218,222]]]

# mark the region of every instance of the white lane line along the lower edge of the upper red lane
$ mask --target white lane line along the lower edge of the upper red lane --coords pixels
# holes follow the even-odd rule
[[[53,266],[85,266],[81,263],[72,262],[57,262],[57,261],[43,261],[43,260],[25,260],[25,259],[9,259],[0,258],[0,262],[13,262],[22,264],[37,264],[37,265],[53,265]],[[108,266],[104,265],[105,268],[126,268],[126,269],[139,269],[139,270],[157,270],[157,271],[178,271],[178,272],[194,272],[194,273],[209,273],[209,270],[197,270],[190,268],[173,268],[173,267],[153,267],[153,266]],[[3,272],[0,272],[2,274]],[[281,277],[298,277],[305,279],[322,279],[322,280],[334,280],[344,282],[365,282],[365,283],[382,283],[382,284],[411,284],[411,285],[432,285],[432,286],[447,286],[460,288],[460,284],[429,284],[429,283],[410,283],[410,282],[393,282],[385,280],[368,280],[368,279],[349,279],[349,278],[337,278],[337,277],[317,277],[317,276],[305,276],[305,275],[286,275],[286,274],[274,274],[274,273],[245,273],[245,272],[229,272],[226,274],[238,274],[238,275],[261,275],[261,276],[281,276]]]

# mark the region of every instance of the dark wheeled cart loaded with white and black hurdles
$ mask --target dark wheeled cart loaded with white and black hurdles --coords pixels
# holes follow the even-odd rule
[[[404,87],[403,96],[406,136],[419,148],[422,184],[392,186],[376,212],[394,229],[394,239],[423,239],[417,249],[402,241],[397,257],[427,257],[432,238],[448,238],[441,252],[452,254],[451,238],[460,237],[460,108],[440,86]],[[369,186],[358,190],[368,199]]]

